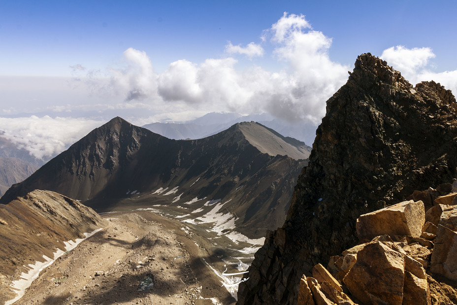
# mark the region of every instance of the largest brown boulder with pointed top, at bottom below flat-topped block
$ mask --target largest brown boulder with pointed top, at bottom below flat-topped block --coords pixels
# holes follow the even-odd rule
[[[343,279],[362,304],[402,304],[405,255],[381,242],[367,244]]]

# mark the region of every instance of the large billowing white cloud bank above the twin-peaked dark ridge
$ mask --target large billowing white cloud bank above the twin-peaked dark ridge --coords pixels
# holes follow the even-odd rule
[[[269,71],[256,65],[238,69],[237,56],[253,59],[272,48],[269,56],[283,66]],[[226,58],[209,58],[202,63],[185,59],[156,73],[144,51],[124,52],[123,68],[111,68],[105,78],[90,74],[93,91],[122,97],[126,102],[142,101],[159,107],[174,103],[180,107],[209,111],[237,111],[243,114],[268,112],[288,121],[318,124],[325,115],[326,100],[347,79],[349,67],[328,56],[331,39],[311,28],[303,15],[284,15],[261,33],[261,42],[246,46],[225,46]]]

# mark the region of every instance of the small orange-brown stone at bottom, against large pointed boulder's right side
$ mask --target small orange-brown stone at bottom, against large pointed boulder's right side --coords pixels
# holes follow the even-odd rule
[[[405,271],[403,282],[403,305],[431,305],[427,278],[419,278]]]

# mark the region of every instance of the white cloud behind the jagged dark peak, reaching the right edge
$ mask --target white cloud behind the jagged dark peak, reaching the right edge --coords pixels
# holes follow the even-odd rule
[[[431,48],[394,46],[383,51],[381,58],[409,80],[413,85],[424,80],[433,80],[455,94],[457,92],[457,70],[435,72],[430,59],[435,58]]]

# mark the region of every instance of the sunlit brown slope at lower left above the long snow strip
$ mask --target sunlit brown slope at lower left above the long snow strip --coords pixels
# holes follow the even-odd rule
[[[0,302],[10,294],[11,279],[29,264],[54,257],[65,241],[84,238],[105,221],[91,208],[50,191],[35,190],[0,204]],[[4,301],[4,300],[3,300]]]

